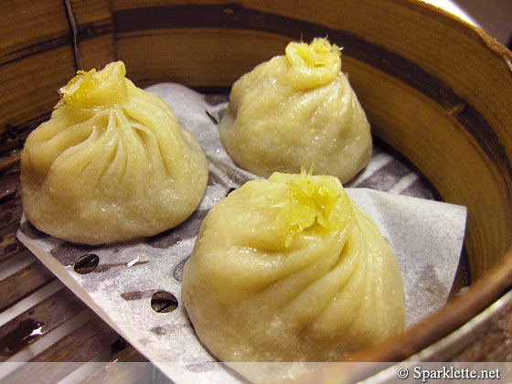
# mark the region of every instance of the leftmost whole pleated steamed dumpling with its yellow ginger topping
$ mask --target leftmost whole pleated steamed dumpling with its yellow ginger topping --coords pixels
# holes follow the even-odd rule
[[[124,75],[121,61],[80,71],[27,137],[21,197],[37,229],[110,243],[175,227],[197,208],[208,182],[199,144]]]

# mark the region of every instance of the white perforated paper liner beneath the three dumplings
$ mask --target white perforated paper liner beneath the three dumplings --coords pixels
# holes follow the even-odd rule
[[[211,96],[177,84],[157,84],[147,91],[171,107],[207,155],[210,177],[196,212],[164,234],[103,247],[76,246],[48,237],[25,219],[17,236],[69,289],[176,383],[238,383],[243,379],[216,363],[198,341],[181,305],[181,275],[208,209],[225,197],[229,188],[240,187],[256,176],[234,165],[219,142],[216,123],[227,102],[212,103]],[[365,185],[365,174],[382,167],[380,163],[387,164],[386,156],[373,156],[367,171],[352,184]],[[403,179],[407,177],[411,175]],[[347,193],[375,220],[398,257],[407,325],[442,307],[459,262],[465,208],[367,188],[347,188]],[[74,272],[74,262],[87,253],[99,256],[98,268],[88,274]],[[176,296],[174,312],[160,314],[152,309],[151,297],[157,291]]]

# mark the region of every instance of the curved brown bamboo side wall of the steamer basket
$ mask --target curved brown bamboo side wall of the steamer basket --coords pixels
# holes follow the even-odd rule
[[[421,350],[418,359],[510,359],[503,346],[512,307],[512,54],[496,40],[412,0],[24,0],[1,7],[13,21],[0,25],[4,142],[48,119],[56,90],[77,69],[123,59],[139,87],[176,81],[226,91],[292,39],[328,36],[343,46],[343,70],[372,133],[443,201],[467,207],[472,282],[420,324],[353,359],[400,361]],[[500,355],[478,349],[491,334]]]

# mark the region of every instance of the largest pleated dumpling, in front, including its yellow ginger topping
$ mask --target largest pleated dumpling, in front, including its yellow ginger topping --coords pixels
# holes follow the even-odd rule
[[[220,360],[334,361],[403,330],[394,253],[333,176],[253,180],[208,212],[183,275]]]

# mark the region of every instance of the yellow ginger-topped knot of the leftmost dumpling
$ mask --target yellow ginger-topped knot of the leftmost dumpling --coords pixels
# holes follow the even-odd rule
[[[55,109],[62,106],[70,109],[101,108],[122,101],[126,95],[125,74],[123,61],[108,64],[100,71],[79,70],[66,86],[59,89],[60,101]]]

